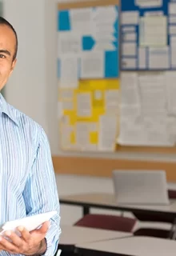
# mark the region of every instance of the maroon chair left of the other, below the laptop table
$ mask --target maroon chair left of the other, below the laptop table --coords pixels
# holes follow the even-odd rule
[[[123,232],[133,232],[136,219],[106,214],[87,214],[74,226],[86,226],[102,230],[116,230]]]

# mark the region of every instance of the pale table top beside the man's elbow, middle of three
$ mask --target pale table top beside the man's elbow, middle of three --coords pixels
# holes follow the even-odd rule
[[[59,244],[62,246],[76,245],[87,242],[96,242],[114,238],[126,238],[132,236],[131,233],[100,230],[82,226],[62,226],[62,234]]]

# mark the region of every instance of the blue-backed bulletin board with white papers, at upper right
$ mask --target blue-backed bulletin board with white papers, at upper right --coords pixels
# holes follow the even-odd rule
[[[122,0],[122,70],[176,70],[176,2]]]

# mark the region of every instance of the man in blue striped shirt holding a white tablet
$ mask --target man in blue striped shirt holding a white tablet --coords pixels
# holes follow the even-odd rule
[[[0,90],[17,62],[17,34],[0,17]],[[38,230],[18,227],[0,235],[0,256],[49,255],[58,246],[60,217],[50,147],[42,127],[10,106],[0,94],[0,224],[57,210]],[[9,239],[10,238],[10,239]]]

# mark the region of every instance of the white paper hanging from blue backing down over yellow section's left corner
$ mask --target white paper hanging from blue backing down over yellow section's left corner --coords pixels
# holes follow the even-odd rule
[[[74,89],[78,87],[78,58],[64,55],[61,58],[61,75],[59,88]]]

